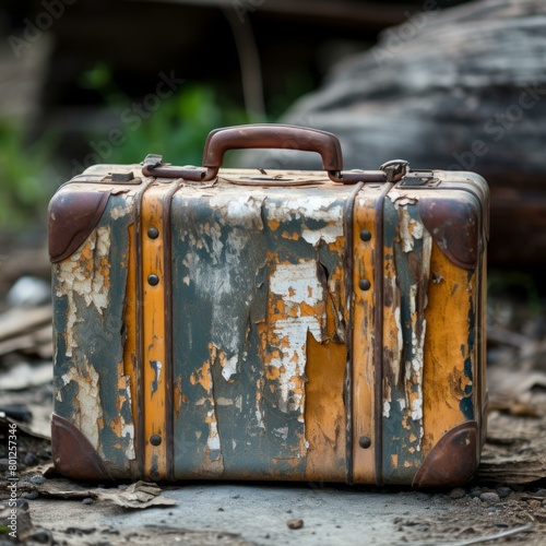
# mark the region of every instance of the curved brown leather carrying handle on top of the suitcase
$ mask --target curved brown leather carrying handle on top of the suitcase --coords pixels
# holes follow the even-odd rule
[[[225,152],[241,149],[317,152],[322,157],[322,168],[328,171],[330,178],[336,182],[342,181],[340,174],[343,156],[337,136],[318,129],[278,123],[224,127],[211,131],[203,152],[203,167],[207,167],[207,176],[203,180],[216,176]]]

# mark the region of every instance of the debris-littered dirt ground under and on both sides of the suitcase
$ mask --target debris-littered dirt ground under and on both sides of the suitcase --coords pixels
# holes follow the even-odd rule
[[[22,274],[47,281],[47,259],[13,252],[9,266],[5,258],[0,263],[0,410],[8,414],[0,417],[0,546],[13,544],[13,490],[23,544],[546,543],[546,320],[525,275],[491,276],[488,436],[465,487],[84,484],[51,468],[48,304],[16,308],[7,300]],[[17,260],[26,265],[17,269]],[[10,480],[14,432],[17,482]]]

